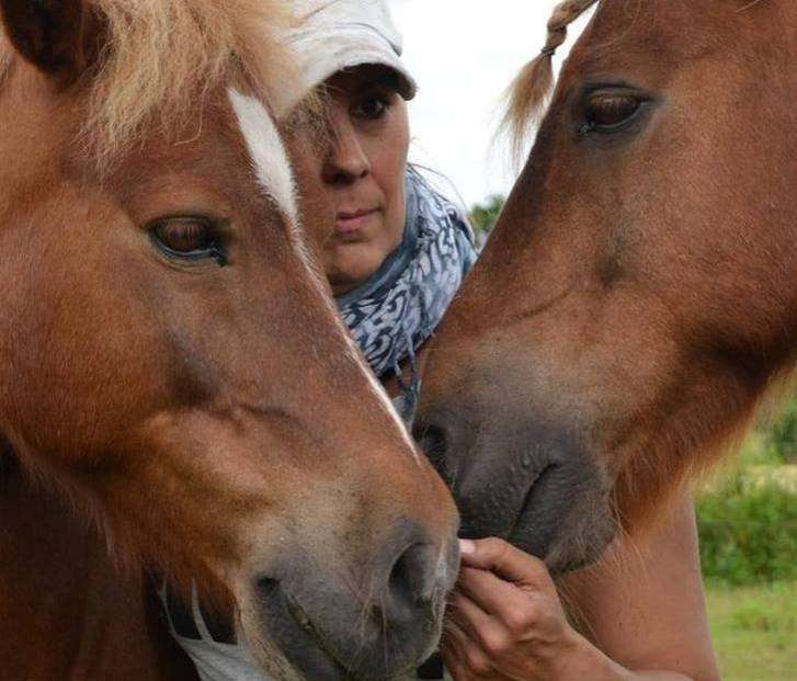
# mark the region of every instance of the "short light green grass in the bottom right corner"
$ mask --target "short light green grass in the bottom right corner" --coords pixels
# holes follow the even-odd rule
[[[797,679],[797,582],[709,582],[706,601],[724,681]]]

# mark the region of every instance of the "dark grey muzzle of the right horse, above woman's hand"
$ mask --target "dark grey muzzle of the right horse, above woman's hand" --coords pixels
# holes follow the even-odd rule
[[[415,438],[454,493],[460,535],[505,538],[554,574],[594,561],[616,530],[610,476],[576,429],[512,411],[480,415],[455,400],[415,419]]]

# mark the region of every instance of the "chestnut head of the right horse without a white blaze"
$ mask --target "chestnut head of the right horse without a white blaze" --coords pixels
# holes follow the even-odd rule
[[[594,559],[789,372],[795,25],[785,0],[599,4],[430,349],[415,429],[467,533]],[[516,92],[521,126],[545,94]]]

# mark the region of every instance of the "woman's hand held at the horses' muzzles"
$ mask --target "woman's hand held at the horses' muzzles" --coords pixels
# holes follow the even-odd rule
[[[545,564],[502,540],[463,541],[443,638],[456,681],[616,679],[568,623]]]

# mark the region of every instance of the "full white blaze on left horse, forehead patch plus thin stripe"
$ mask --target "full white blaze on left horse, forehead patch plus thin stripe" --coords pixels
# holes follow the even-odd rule
[[[263,191],[276,202],[277,207],[285,214],[292,227],[296,228],[299,224],[299,215],[296,208],[296,183],[294,182],[294,173],[288,161],[287,152],[285,151],[285,146],[280,138],[280,133],[276,129],[273,118],[265,110],[265,106],[257,99],[246,97],[234,88],[229,89],[228,94],[230,103],[232,104],[232,111],[235,111],[236,117],[238,118],[241,134],[247,143],[249,155],[252,158],[258,182]],[[300,238],[300,241],[304,247],[304,238]],[[300,257],[314,279],[319,295],[333,310],[335,318],[340,319],[340,315],[329,299],[329,294],[322,282],[314,274],[316,269],[310,264],[310,256],[305,248],[300,248]],[[366,366],[356,343],[349,334],[342,320],[340,321],[340,327],[349,341],[352,357],[360,370],[367,376],[368,385],[376,395],[379,404],[388,417],[395,422],[405,444],[410,449],[412,456],[420,464],[414,442],[398,411],[396,411],[395,405],[388,397],[385,388],[379,385],[371,368]]]

